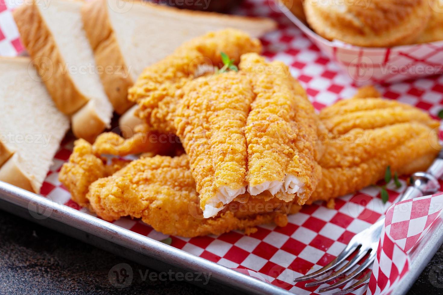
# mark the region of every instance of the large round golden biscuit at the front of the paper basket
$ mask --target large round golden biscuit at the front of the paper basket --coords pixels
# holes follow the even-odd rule
[[[414,42],[431,15],[429,0],[306,0],[304,8],[322,37],[367,47]]]

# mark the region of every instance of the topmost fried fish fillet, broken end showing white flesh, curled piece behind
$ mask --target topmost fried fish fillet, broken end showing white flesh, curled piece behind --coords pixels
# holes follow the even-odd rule
[[[304,203],[320,178],[314,108],[288,67],[265,62],[260,50],[240,31],[210,33],[145,69],[129,90],[148,126],[182,140],[205,217],[246,187]],[[196,79],[201,65],[221,62],[221,52],[235,62],[241,56],[239,73]]]

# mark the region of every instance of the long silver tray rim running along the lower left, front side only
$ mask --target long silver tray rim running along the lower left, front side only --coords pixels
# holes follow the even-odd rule
[[[26,191],[3,181],[0,181],[0,200],[27,209],[30,213],[37,213],[37,210],[35,210],[37,208],[40,212],[42,212],[42,209],[50,210],[51,214],[44,219],[60,222],[68,227],[73,227],[97,238],[104,239],[109,243],[122,246],[147,257],[155,258],[175,268],[211,273],[211,279],[239,291],[251,294],[292,294],[283,288],[268,284],[251,276],[246,276],[221,264],[187,253],[182,249],[127,230],[111,222],[75,210],[64,204],[56,203],[42,195]],[[38,207],[30,206],[31,203],[38,205]],[[36,219],[35,221],[38,220]],[[154,265],[149,266],[155,269]]]

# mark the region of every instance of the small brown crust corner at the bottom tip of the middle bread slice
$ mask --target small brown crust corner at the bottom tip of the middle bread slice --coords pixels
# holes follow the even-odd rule
[[[71,117],[71,129],[74,135],[88,142],[94,142],[98,134],[105,130],[106,125],[97,114],[92,101]]]

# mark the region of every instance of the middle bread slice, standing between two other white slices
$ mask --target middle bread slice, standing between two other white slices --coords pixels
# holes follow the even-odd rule
[[[112,117],[82,25],[82,1],[33,0],[14,11],[20,38],[72,130],[93,141]]]

